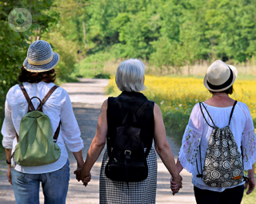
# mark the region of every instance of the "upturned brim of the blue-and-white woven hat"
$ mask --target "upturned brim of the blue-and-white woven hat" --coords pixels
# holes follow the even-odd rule
[[[47,72],[47,71],[50,71],[51,69],[54,69],[54,67],[58,65],[59,58],[60,58],[59,54],[54,53],[52,61],[50,61],[46,65],[30,65],[26,57],[25,61],[23,62],[23,66],[24,66],[24,69],[26,69],[30,73]]]

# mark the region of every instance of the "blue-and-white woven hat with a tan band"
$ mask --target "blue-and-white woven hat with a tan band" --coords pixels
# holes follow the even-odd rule
[[[40,40],[30,45],[23,66],[30,73],[42,73],[54,69],[58,61],[58,53],[53,52],[48,42]]]

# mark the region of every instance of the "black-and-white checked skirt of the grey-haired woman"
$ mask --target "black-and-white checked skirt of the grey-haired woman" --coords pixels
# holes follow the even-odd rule
[[[101,204],[149,204],[155,203],[157,190],[158,163],[154,147],[147,157],[149,168],[147,179],[141,182],[115,182],[105,175],[106,163],[109,160],[107,151],[102,159],[101,174],[99,180],[99,203]]]

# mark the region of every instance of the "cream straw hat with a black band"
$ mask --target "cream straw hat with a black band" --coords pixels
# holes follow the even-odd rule
[[[222,92],[230,88],[237,77],[238,69],[232,65],[226,65],[223,61],[217,60],[207,69],[203,84],[212,92]]]

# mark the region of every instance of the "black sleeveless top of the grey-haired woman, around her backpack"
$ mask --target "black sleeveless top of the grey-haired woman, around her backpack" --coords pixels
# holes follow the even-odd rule
[[[135,114],[146,99],[140,92],[122,92],[118,99],[125,113],[132,111]],[[137,127],[141,128],[144,147],[150,148],[154,138],[154,102],[148,100],[149,104],[137,121]],[[114,97],[109,97],[107,102],[107,146],[113,147],[117,128],[122,126],[122,115]]]

